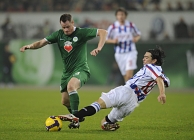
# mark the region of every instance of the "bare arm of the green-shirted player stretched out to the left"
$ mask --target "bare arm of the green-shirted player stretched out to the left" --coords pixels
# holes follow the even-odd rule
[[[48,44],[48,42],[45,39],[42,39],[40,41],[37,41],[37,42],[34,42],[32,44],[25,45],[25,46],[21,47],[20,51],[24,52],[27,49],[39,49],[47,44]]]

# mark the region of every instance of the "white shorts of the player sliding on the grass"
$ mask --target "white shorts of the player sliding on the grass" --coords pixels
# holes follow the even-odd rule
[[[130,87],[119,86],[108,93],[102,93],[100,97],[106,104],[106,108],[111,108],[108,118],[111,122],[122,121],[139,104],[137,95]]]

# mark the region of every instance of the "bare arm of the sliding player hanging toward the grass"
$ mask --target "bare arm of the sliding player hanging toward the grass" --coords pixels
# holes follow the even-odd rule
[[[160,95],[158,96],[158,102],[164,104],[166,102],[164,82],[161,77],[156,78],[156,82],[159,88]]]

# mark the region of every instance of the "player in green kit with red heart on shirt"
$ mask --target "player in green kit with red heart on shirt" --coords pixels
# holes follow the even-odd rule
[[[99,36],[97,48],[90,52],[91,55],[96,56],[104,46],[107,31],[96,28],[77,28],[70,14],[61,15],[60,24],[62,29],[40,41],[21,47],[20,51],[39,49],[47,44],[57,43],[64,64],[60,86],[62,104],[70,113],[75,114],[79,106],[77,90],[90,77],[87,41]]]

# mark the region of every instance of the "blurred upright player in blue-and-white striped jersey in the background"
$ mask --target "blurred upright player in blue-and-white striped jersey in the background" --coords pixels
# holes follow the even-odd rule
[[[119,66],[125,82],[133,76],[137,68],[137,50],[141,32],[134,23],[126,20],[127,11],[119,8],[115,12],[117,21],[108,27],[106,43],[114,44],[115,60]]]

